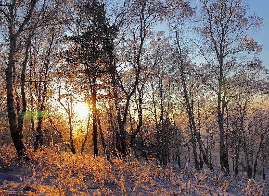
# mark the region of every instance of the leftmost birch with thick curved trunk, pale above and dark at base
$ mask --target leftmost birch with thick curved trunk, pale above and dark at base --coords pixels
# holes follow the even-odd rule
[[[8,109],[8,120],[10,127],[10,134],[19,155],[23,155],[26,152],[26,147],[23,144],[22,137],[16,123],[16,113],[14,110],[14,99],[13,99],[13,85],[12,85],[12,69],[14,64],[14,55],[16,50],[16,42],[20,35],[28,28],[27,24],[33,15],[38,0],[33,1],[1,1],[0,13],[1,23],[4,24],[5,30],[7,31],[9,40],[9,54],[8,63],[6,66],[6,89],[7,89],[7,109]],[[25,14],[20,14],[25,12]]]

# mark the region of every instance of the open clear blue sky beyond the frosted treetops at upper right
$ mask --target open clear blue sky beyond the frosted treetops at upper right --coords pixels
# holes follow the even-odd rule
[[[255,13],[263,19],[263,24],[257,31],[254,33],[249,31],[249,37],[263,46],[263,50],[258,57],[262,60],[262,66],[269,70],[269,0],[247,0],[246,2],[249,5],[249,10],[247,10],[246,16]],[[196,14],[199,16],[199,9],[201,7],[199,3],[193,1],[191,6],[197,7]],[[168,36],[170,32],[166,30],[166,28],[167,25],[165,23],[155,26],[156,31],[165,31],[165,36]],[[194,58],[194,61],[196,61],[196,64],[200,64],[201,62],[201,60],[198,60],[197,58]]]

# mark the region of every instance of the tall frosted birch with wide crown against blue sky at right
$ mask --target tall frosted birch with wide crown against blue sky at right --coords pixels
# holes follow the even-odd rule
[[[229,84],[226,77],[232,70],[243,66],[242,61],[248,59],[246,52],[259,53],[261,46],[247,36],[248,31],[259,28],[261,19],[257,15],[246,17],[247,5],[241,0],[201,0],[201,15],[198,21],[200,26],[196,30],[200,32],[201,55],[206,60],[207,71],[212,71],[211,78],[214,83],[200,78],[215,92],[217,97],[217,114],[220,134],[220,165],[226,175],[229,173],[229,161],[225,145],[225,106]],[[243,57],[244,56],[244,57]],[[257,59],[253,59],[256,62]],[[256,66],[253,63],[250,66]]]

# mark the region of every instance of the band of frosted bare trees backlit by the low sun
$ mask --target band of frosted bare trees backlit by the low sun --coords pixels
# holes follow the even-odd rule
[[[268,75],[248,37],[262,19],[245,1],[199,2],[1,1],[1,146],[265,178]]]

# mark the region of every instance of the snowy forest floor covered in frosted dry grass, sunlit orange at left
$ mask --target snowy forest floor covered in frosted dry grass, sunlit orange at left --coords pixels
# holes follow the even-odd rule
[[[17,158],[14,148],[0,147],[0,153],[0,195],[265,196],[269,191],[259,175],[224,177],[219,170],[188,164],[162,166],[132,157],[108,161],[46,149],[30,151],[30,161]]]

